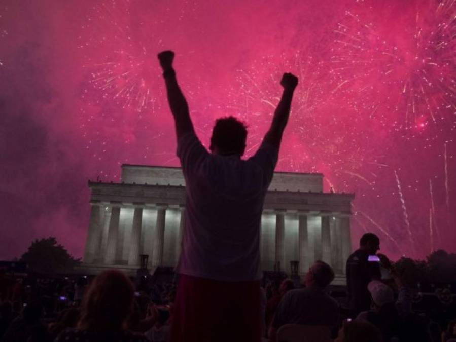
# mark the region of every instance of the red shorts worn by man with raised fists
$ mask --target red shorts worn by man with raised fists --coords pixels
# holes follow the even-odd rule
[[[261,329],[260,281],[180,276],[171,342],[260,342]]]

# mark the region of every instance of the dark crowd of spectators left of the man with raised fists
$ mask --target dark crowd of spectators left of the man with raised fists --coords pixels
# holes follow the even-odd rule
[[[0,341],[166,341],[176,289],[141,280],[114,270],[76,278],[2,273]]]

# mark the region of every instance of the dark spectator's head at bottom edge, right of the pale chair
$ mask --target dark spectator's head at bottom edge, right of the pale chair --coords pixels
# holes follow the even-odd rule
[[[380,331],[366,321],[344,322],[334,342],[382,342]]]

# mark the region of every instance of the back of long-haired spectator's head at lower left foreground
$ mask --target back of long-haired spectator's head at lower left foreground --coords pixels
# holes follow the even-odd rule
[[[99,332],[125,329],[133,299],[133,284],[127,276],[115,270],[104,271],[84,295],[78,328]]]

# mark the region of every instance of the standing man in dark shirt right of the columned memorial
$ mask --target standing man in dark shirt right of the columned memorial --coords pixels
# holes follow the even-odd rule
[[[366,233],[361,237],[360,248],[348,257],[346,264],[348,308],[355,317],[360,312],[370,309],[371,296],[367,285],[372,280],[381,279],[380,263],[375,260],[375,254],[379,249],[378,237],[373,233]]]

